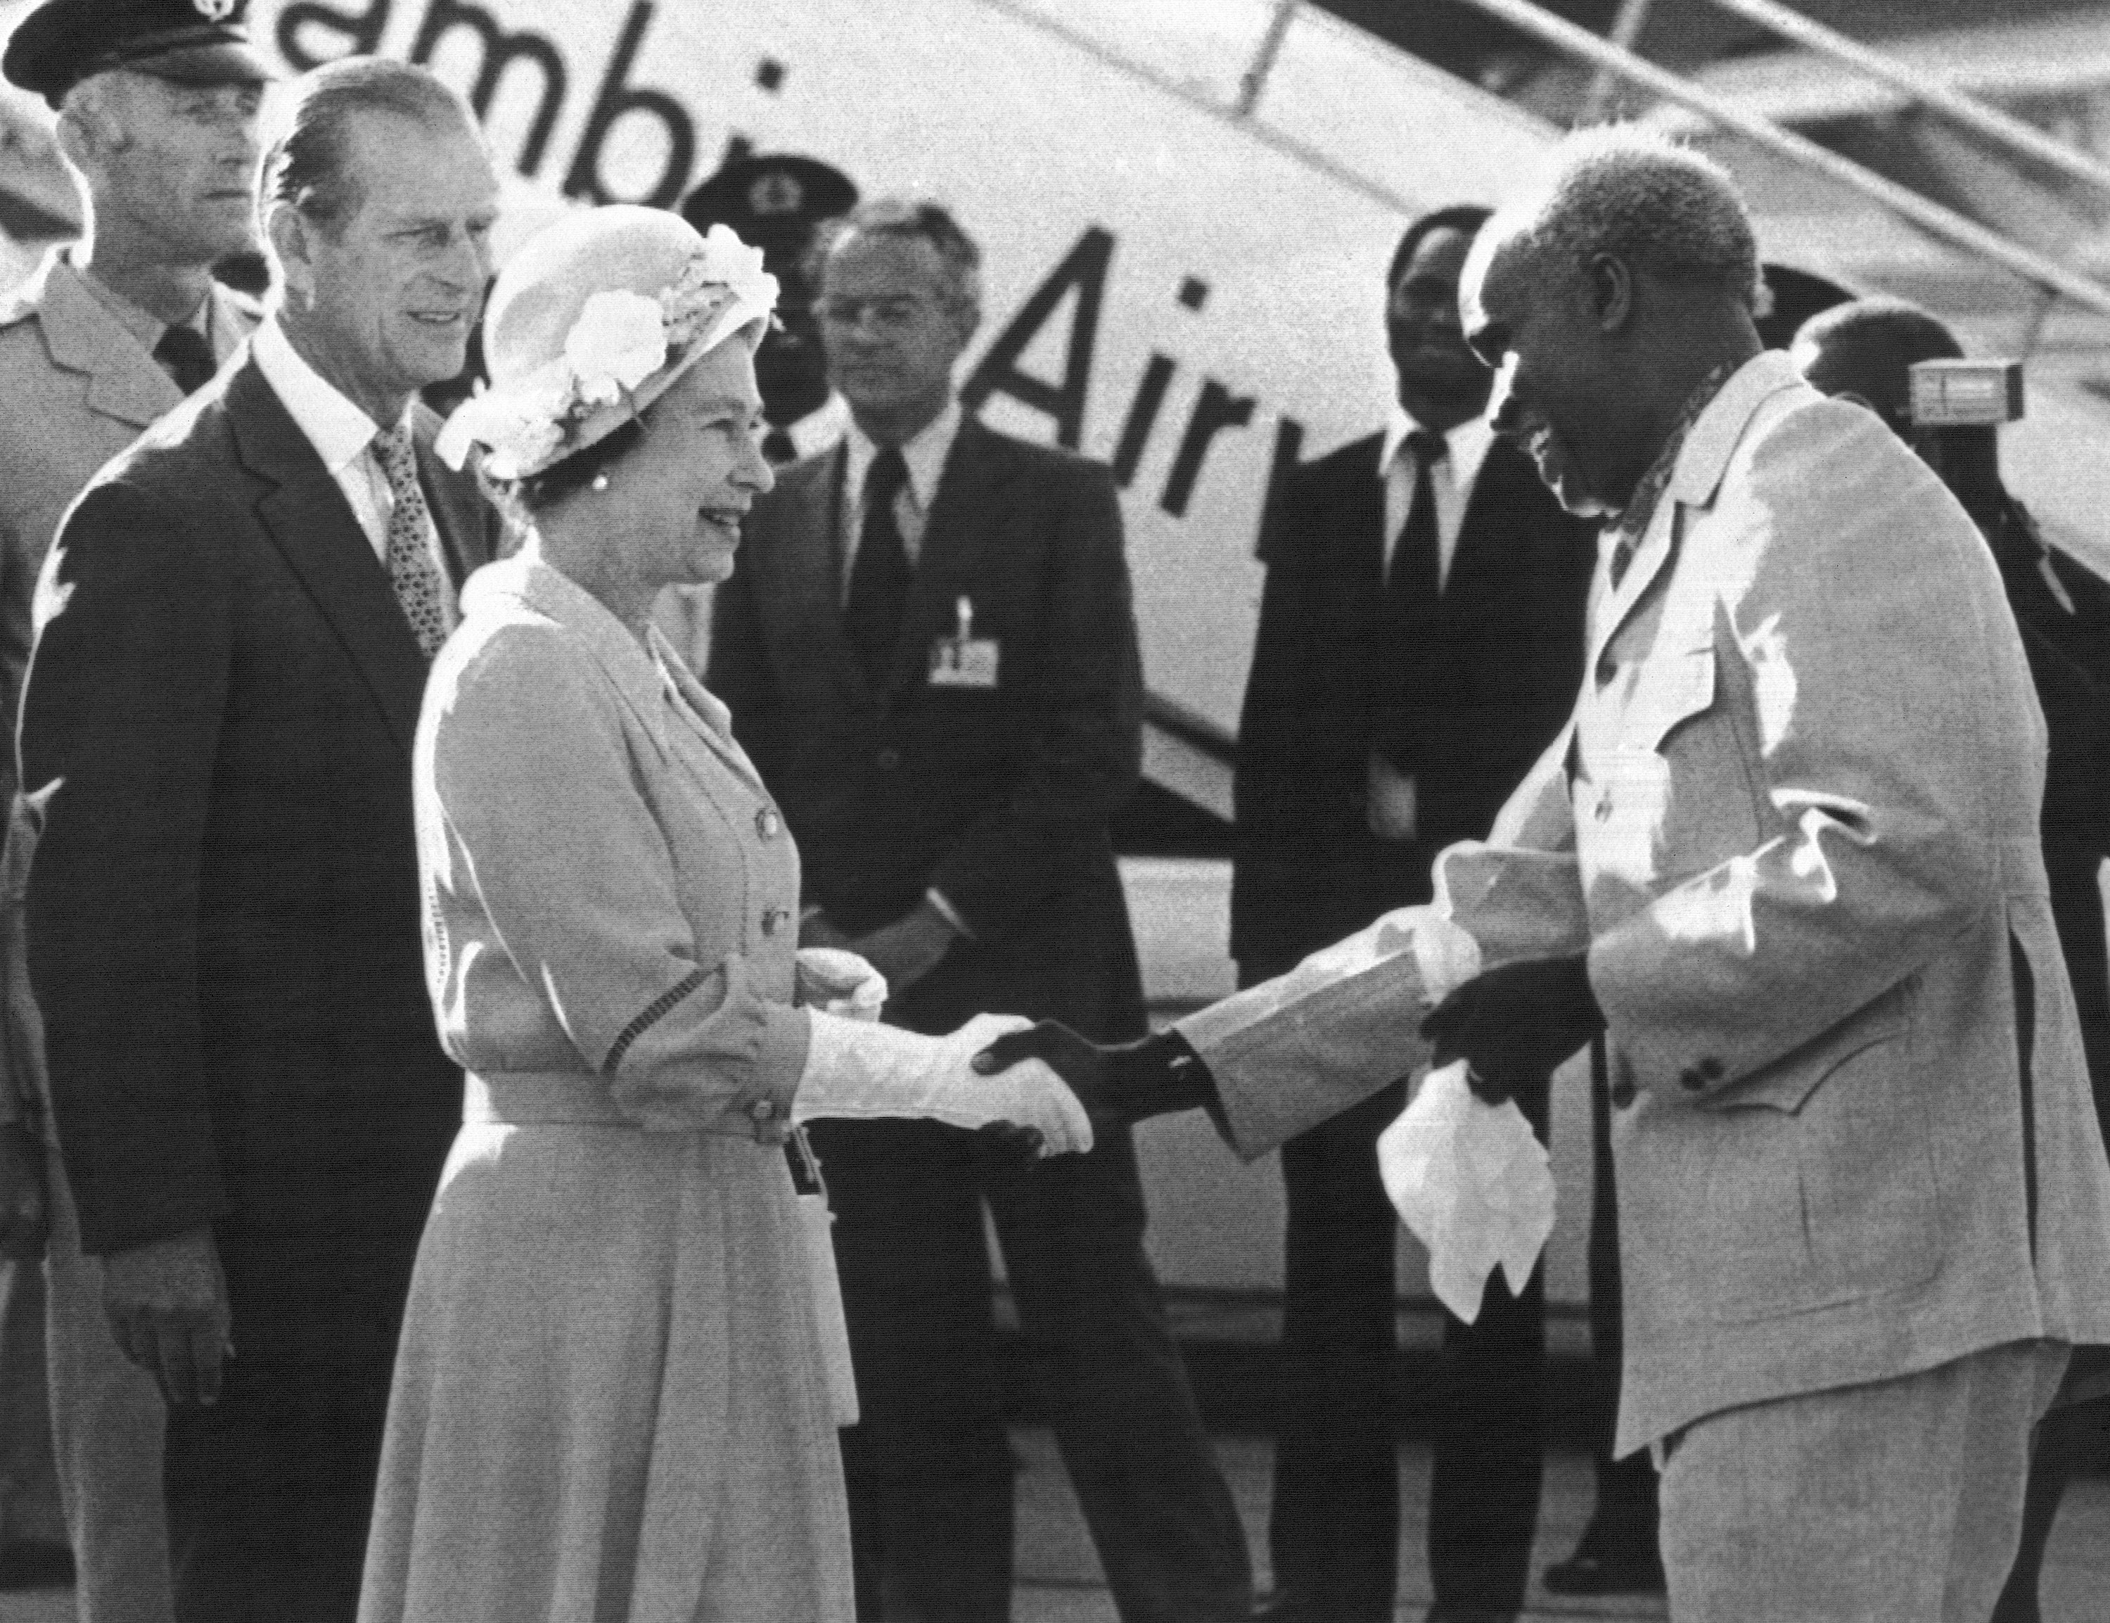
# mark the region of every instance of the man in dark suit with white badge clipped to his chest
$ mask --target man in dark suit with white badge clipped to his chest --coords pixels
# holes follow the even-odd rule
[[[711,686],[798,834],[802,939],[865,954],[888,1019],[1135,1036],[1106,829],[1142,726],[1120,511],[1104,469],[962,416],[977,264],[935,205],[867,205],[833,238],[819,317],[852,428],[755,502]],[[935,1123],[821,1127],[865,1416],[844,1435],[859,1615],[1009,1617],[987,1199],[1123,1619],[1243,1617],[1245,1541],[1144,1258],[1129,1133],[1023,1171]]]

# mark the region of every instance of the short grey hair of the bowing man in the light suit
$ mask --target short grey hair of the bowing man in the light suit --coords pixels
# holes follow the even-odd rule
[[[1538,184],[1488,234],[1557,276],[1576,276],[1608,253],[1667,283],[1764,308],[1758,238],[1737,182],[1713,158],[1642,125],[1597,125],[1561,139]]]

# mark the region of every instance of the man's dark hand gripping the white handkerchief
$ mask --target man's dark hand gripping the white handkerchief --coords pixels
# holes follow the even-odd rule
[[[1551,1076],[1604,1030],[1582,954],[1526,958],[1477,975],[1422,1021],[1435,1064],[1464,1059],[1466,1085],[1488,1104]]]

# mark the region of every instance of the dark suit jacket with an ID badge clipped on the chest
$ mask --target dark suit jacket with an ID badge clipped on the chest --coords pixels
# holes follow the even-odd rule
[[[1139,1034],[1106,823],[1142,762],[1142,663],[1104,466],[968,418],[939,479],[888,680],[842,631],[842,447],[779,473],[717,589],[709,686],[785,808],[808,903],[859,933],[926,889],[973,941],[888,1007],[950,1030],[990,1009]],[[928,682],[956,599],[1000,646],[987,690]]]

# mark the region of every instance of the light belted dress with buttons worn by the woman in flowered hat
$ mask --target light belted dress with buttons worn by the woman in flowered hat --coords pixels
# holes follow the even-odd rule
[[[418,726],[468,1106],[397,1361],[361,1623],[850,1623],[783,1152],[798,853],[724,707],[532,555]]]

